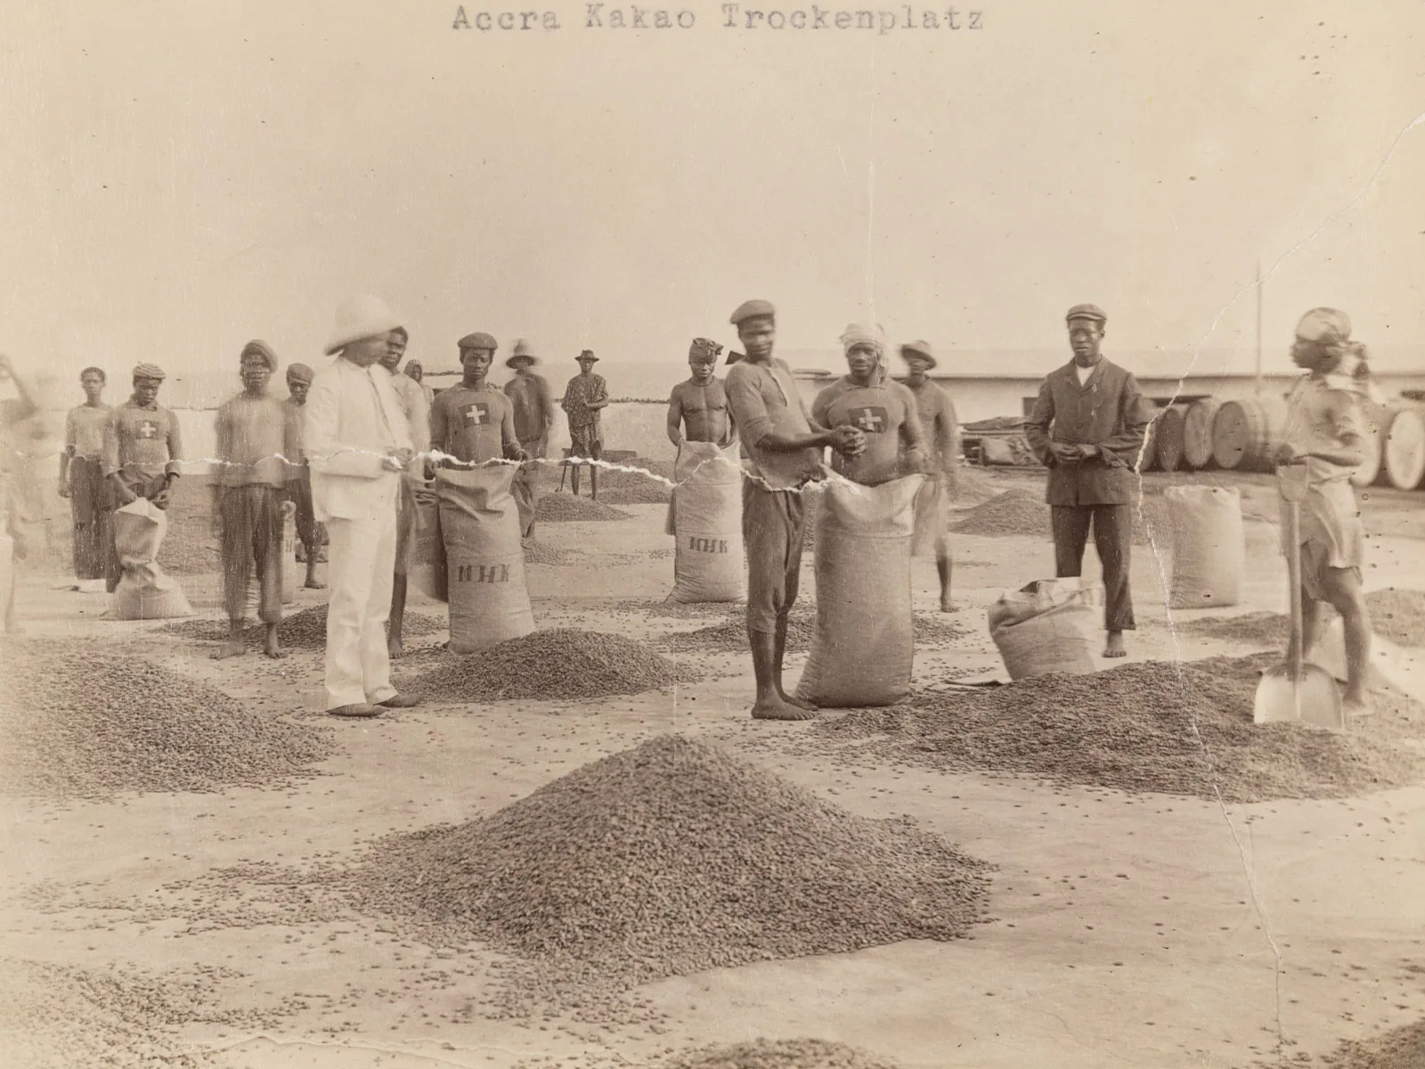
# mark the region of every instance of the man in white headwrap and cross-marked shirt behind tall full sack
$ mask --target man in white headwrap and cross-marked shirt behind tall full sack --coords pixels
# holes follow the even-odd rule
[[[925,470],[915,395],[881,373],[885,335],[879,328],[852,324],[841,335],[841,345],[846,375],[817,395],[811,418],[826,428],[856,428],[866,445],[854,456],[832,455],[832,470],[862,486]]]

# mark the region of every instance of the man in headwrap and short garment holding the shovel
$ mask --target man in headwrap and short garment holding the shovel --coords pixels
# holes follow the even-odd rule
[[[1287,395],[1278,465],[1304,463],[1301,502],[1301,643],[1310,653],[1321,634],[1321,603],[1345,626],[1347,684],[1342,704],[1369,713],[1371,616],[1361,589],[1365,529],[1351,475],[1365,459],[1361,399],[1371,395],[1365,346],[1351,341],[1351,321],[1335,308],[1312,308],[1297,324],[1291,359],[1305,375]],[[1282,525],[1282,533],[1287,525]],[[1285,539],[1282,540],[1285,549]],[[1287,651],[1294,659],[1295,649]]]

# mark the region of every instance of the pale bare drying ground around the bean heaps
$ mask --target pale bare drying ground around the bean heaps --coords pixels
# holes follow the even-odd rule
[[[20,1060],[17,1033],[4,1031],[40,1023],[53,1065],[658,1066],[690,1046],[765,1036],[849,1043],[876,1063],[923,1069],[1245,1069],[1302,1065],[1425,1016],[1425,787],[1221,804],[834,760],[805,744],[811,725],[747,718],[745,654],[670,649],[680,646],[670,631],[724,614],[660,611],[673,569],[663,509],[620,507],[633,517],[542,527],[561,563],[530,569],[540,627],[643,641],[698,678],[577,707],[439,704],[329,725],[315,651],[214,663],[207,646],[155,624],[100,621],[103,599],[27,582],[31,634],[137,639],[172,673],[336,731],[319,775],[274,790],[7,800],[0,1050],[11,1060],[0,1055],[0,1065],[46,1063],[44,1050]],[[1248,525],[1247,600],[1213,616],[1282,607],[1273,537]],[[993,674],[985,606],[1052,573],[1050,546],[1032,533],[955,546],[962,611],[952,620],[963,633],[948,629],[918,647],[919,687]],[[1368,586],[1419,586],[1418,550],[1412,539],[1372,539]],[[1247,653],[1168,624],[1164,569],[1161,556],[1136,550],[1133,659]],[[185,577],[197,601],[211,586]],[[933,567],[916,562],[918,611],[933,613],[932,587]],[[804,589],[814,594],[809,566]],[[304,594],[301,606],[312,603]],[[413,639],[399,674],[439,664],[442,637]],[[804,660],[789,657],[792,681]],[[989,862],[988,919],[949,942],[656,981],[633,992],[623,1022],[567,1006],[517,1019],[492,1009],[510,958],[429,945],[292,878],[345,864],[390,832],[493,814],[674,731],[856,817],[909,815]]]

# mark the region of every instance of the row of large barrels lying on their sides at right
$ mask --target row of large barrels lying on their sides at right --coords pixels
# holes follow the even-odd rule
[[[1425,403],[1368,405],[1364,416],[1369,436],[1367,459],[1351,482],[1398,490],[1425,487]],[[1151,466],[1164,472],[1180,468],[1270,472],[1285,425],[1285,398],[1268,393],[1170,405],[1153,420],[1156,463]]]

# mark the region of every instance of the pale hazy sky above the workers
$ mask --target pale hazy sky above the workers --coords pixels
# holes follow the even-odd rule
[[[1320,304],[1425,341],[1412,0],[986,0],[978,33],[885,36],[546,1],[557,33],[445,0],[6,4],[0,349],[311,362],[365,291],[433,369],[475,329],[681,363],[748,296],[788,348],[874,314],[1054,349],[1094,301],[1110,351],[1250,351],[1258,258],[1268,365]]]

